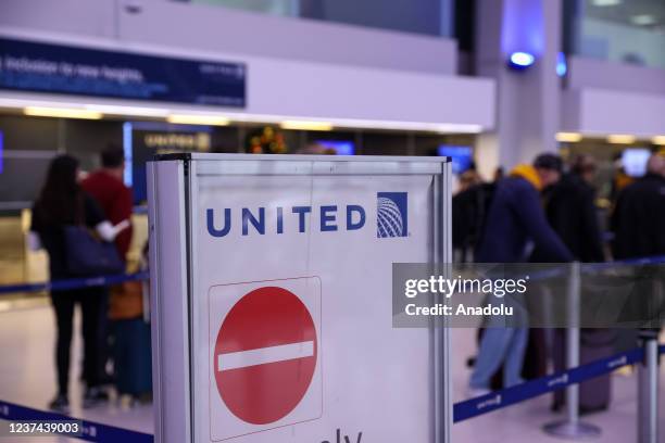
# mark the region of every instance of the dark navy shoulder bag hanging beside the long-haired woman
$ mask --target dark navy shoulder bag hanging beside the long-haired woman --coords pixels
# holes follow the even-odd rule
[[[115,244],[95,238],[84,226],[65,226],[66,267],[75,276],[122,274],[125,265]]]

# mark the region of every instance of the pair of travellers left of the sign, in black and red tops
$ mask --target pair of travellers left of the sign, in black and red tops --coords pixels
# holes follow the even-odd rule
[[[112,287],[87,286],[86,277],[147,267],[147,256],[129,269],[131,190],[123,182],[124,152],[115,145],[101,154],[101,168],[84,175],[78,161],[60,155],[49,165],[33,207],[29,243],[46,249],[51,280],[80,279],[77,289],[51,290],[58,391],[49,406],[70,409],[70,362],[75,306],[80,307],[85,383],[83,407],[110,397],[109,387],[129,402],[151,392],[148,290],[141,281]],[[147,246],[146,246],[147,251]]]

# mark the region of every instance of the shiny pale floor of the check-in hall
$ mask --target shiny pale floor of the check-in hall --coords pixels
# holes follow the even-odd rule
[[[49,307],[38,306],[10,312],[0,312],[0,398],[35,408],[45,408],[54,393],[53,371],[53,318]],[[453,330],[454,398],[464,398],[468,370],[466,357],[475,353],[475,331]],[[80,360],[80,339],[74,342],[72,362]],[[72,379],[78,375],[78,365],[72,365]],[[661,393],[665,397],[665,368],[661,372]],[[613,403],[611,410],[586,418],[603,430],[600,442],[636,441],[636,380],[635,377],[613,378]],[[72,387],[73,413],[75,417],[104,422],[142,432],[152,432],[150,406],[123,408],[117,404],[83,410],[81,388]],[[557,417],[549,412],[549,396],[541,396],[523,404],[488,414],[459,425],[452,429],[454,443],[532,443],[561,441],[544,434],[542,425]],[[665,427],[665,401],[661,400],[661,423]],[[26,443],[25,438],[3,439],[2,442]],[[66,439],[36,439],[39,443],[64,442]],[[368,441],[369,442],[369,441]]]

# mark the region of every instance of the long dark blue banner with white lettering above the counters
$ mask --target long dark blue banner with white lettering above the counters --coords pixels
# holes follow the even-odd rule
[[[243,63],[0,38],[0,89],[242,107],[246,77]]]

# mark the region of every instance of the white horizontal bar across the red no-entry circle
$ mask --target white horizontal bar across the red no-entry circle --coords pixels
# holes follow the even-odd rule
[[[259,347],[249,351],[229,352],[227,354],[217,355],[217,370],[223,371],[239,369],[248,366],[312,357],[313,355],[313,341]]]

